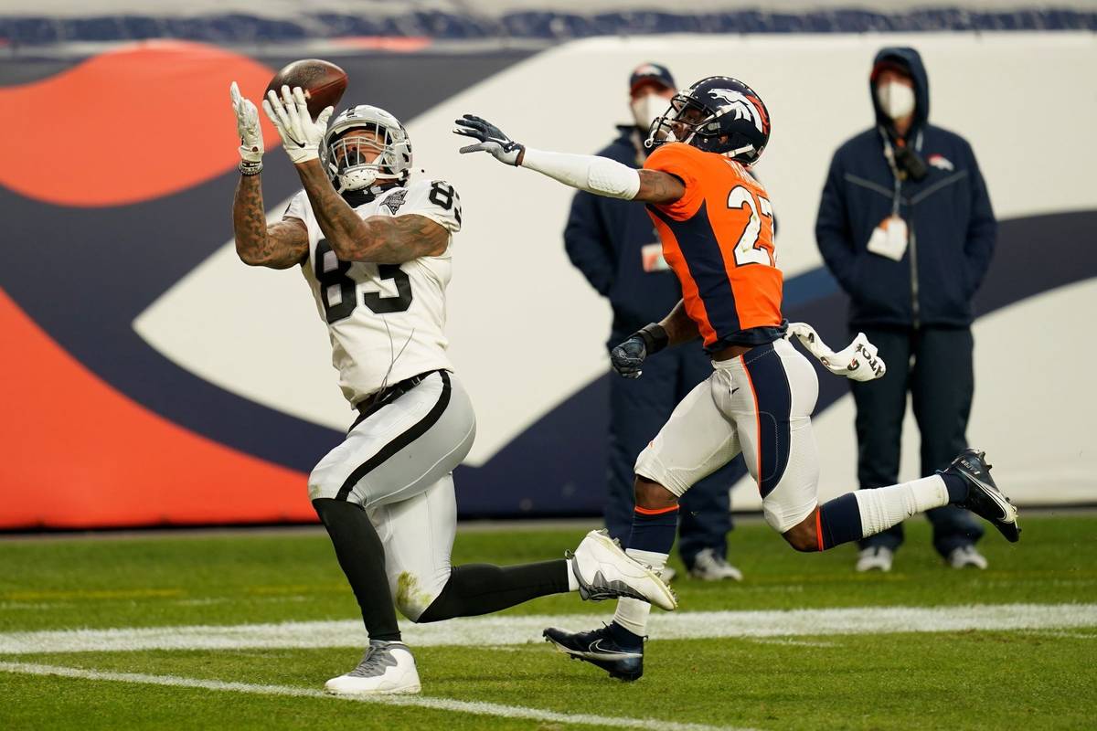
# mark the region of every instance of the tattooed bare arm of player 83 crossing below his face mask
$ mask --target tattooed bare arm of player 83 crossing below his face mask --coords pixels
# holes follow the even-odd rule
[[[341,261],[403,264],[440,254],[450,242],[450,232],[426,216],[371,216],[363,220],[336,193],[318,161],[297,165],[297,173],[313,204],[316,221]]]

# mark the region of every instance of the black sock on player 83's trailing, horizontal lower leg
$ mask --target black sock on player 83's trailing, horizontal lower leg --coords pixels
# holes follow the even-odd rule
[[[567,561],[519,566],[466,563],[453,567],[450,580],[416,621],[473,617],[512,607],[539,596],[567,591]]]

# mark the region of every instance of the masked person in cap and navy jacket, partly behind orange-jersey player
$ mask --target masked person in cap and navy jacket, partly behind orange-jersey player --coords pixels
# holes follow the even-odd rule
[[[618,137],[598,155],[641,168],[648,150],[643,140],[652,121],[676,91],[670,71],[644,64],[629,79],[634,125],[618,127]],[[659,237],[644,206],[579,192],[564,231],[572,263],[613,309],[607,349],[657,321],[681,299],[674,273],[663,260]],[[675,406],[712,373],[700,347],[666,351],[666,359],[644,364],[644,377],[610,376],[610,444],[606,526],[625,540],[632,529],[633,466]],[[678,550],[690,574],[704,580],[742,579],[727,563],[732,529],[728,490],[746,473],[743,458],[698,482],[681,500]]]

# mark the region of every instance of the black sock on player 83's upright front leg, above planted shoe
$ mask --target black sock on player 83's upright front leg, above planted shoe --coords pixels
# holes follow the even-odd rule
[[[371,640],[399,640],[393,594],[385,575],[385,548],[369,516],[355,503],[330,498],[313,501],[328,529],[339,566],[354,591]]]

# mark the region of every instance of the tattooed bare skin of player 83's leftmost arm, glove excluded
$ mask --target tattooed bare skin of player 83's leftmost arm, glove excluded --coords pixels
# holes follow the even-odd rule
[[[302,221],[284,220],[268,228],[259,175],[240,175],[233,198],[236,253],[246,264],[289,269],[308,255],[308,233]]]

